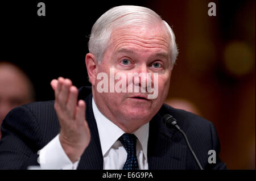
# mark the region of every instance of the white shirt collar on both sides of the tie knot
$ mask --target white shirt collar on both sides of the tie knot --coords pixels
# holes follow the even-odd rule
[[[112,147],[115,141],[123,135],[121,128],[115,125],[112,121],[106,118],[98,107],[96,106],[94,99],[92,99],[93,114],[97,123],[98,133],[100,136],[102,155],[104,156],[107,151]],[[106,129],[107,128],[107,129]],[[149,123],[142,125],[133,134],[138,138],[142,146],[144,157],[147,159],[147,141],[148,141]]]

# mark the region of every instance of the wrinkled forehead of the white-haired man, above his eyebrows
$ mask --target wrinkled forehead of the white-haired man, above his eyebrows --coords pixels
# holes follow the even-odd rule
[[[115,28],[110,36],[110,46],[113,52],[122,49],[135,49],[143,52],[170,51],[170,36],[167,28],[161,26],[124,26]]]

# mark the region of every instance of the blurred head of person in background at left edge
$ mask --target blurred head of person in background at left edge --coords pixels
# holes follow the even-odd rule
[[[13,108],[34,101],[34,87],[27,75],[10,62],[0,62],[0,126]]]

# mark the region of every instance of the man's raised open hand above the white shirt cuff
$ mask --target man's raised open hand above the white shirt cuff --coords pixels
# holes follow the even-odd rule
[[[85,120],[86,104],[84,100],[77,103],[78,90],[70,79],[53,79],[51,86],[55,92],[54,108],[61,127],[60,143],[74,163],[90,142],[90,130]]]

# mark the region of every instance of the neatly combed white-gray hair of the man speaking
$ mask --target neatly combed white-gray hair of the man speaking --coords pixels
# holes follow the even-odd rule
[[[178,50],[175,35],[171,27],[156,12],[141,6],[117,6],[106,11],[98,18],[92,27],[88,43],[89,52],[92,53],[100,63],[106,48],[109,45],[110,35],[114,28],[127,25],[143,26],[163,23],[170,35],[171,67],[175,64]]]

